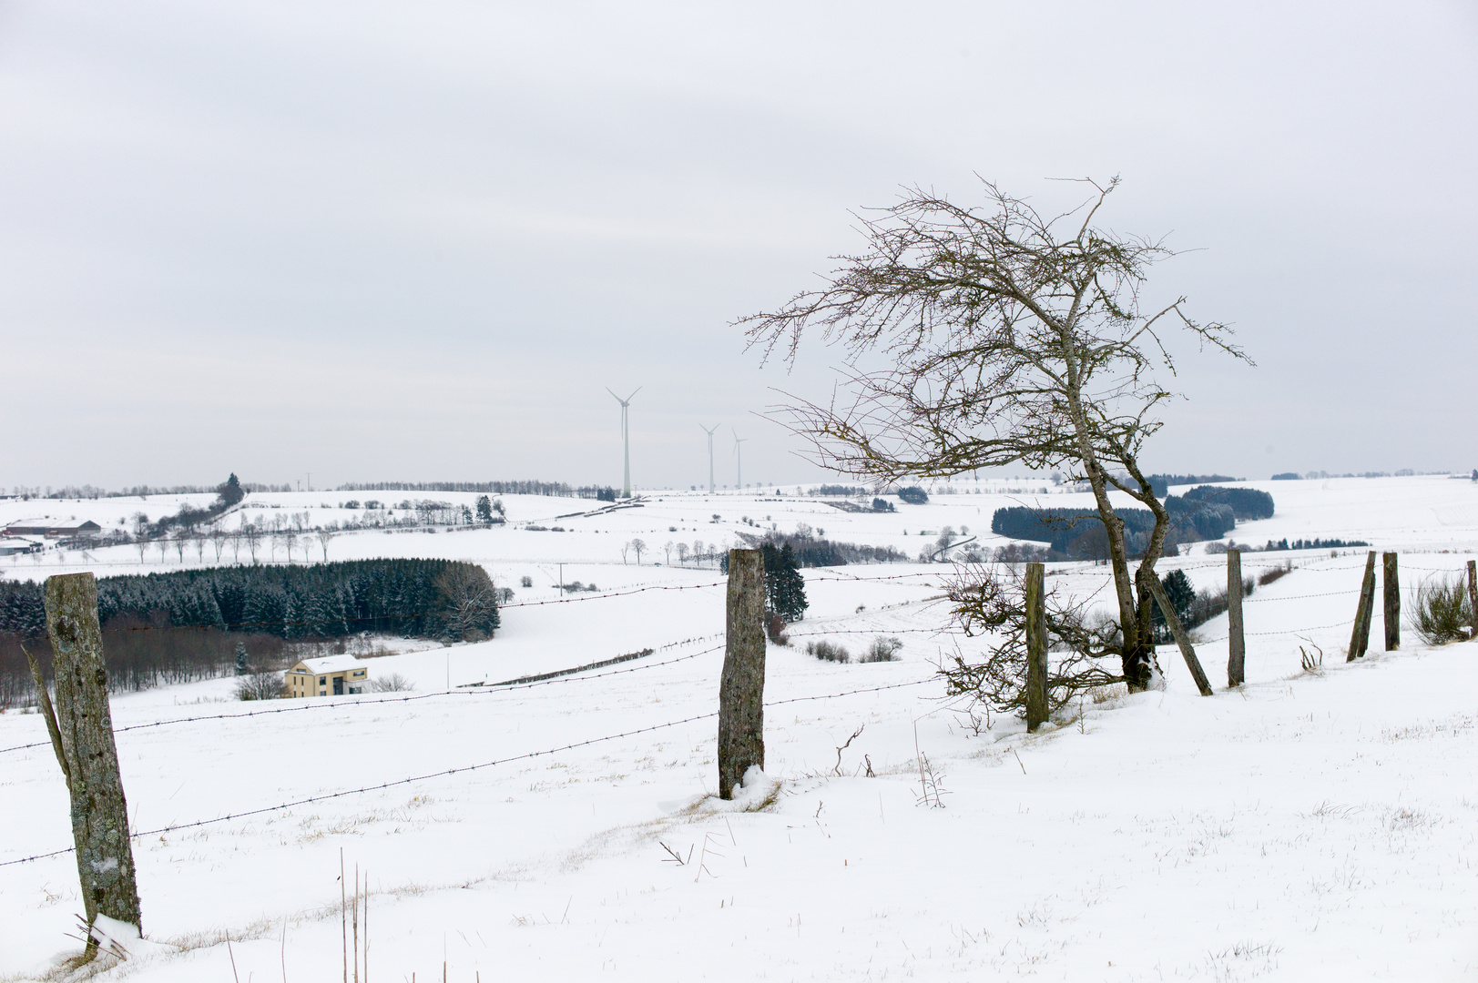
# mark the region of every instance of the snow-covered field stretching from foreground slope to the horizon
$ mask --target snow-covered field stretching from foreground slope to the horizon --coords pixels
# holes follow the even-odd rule
[[[1338,537],[1398,550],[1407,606],[1423,576],[1478,554],[1468,480],[1250,485],[1274,495],[1277,514],[1240,525],[1239,542]],[[505,528],[331,540],[328,559],[483,563],[516,594],[504,627],[486,643],[421,643],[371,662],[377,676],[411,677],[414,693],[238,704],[231,681],[214,680],[114,698],[117,727],[186,718],[118,735],[134,829],[433,778],[136,840],[145,934],[167,945],[134,946],[103,979],[340,979],[340,853],[350,890],[356,866],[370,885],[374,979],[1478,976],[1478,644],[1426,649],[1407,628],[1400,652],[1346,665],[1364,550],[1244,556],[1247,572],[1289,559],[1296,569],[1249,599],[1242,689],[1224,687],[1219,618],[1199,631],[1213,698],[1162,649],[1166,690],[1089,702],[1032,736],[939,699],[933,662],[980,644],[943,633],[934,599],[949,568],[807,571],[797,644],[769,652],[769,778],[745,803],[708,797],[721,578],[678,565],[665,544],[727,545],[757,531],[748,519],[910,556],[930,541],[922,532],[970,526],[990,547],[992,511],[1041,489],[1007,486],[1017,491],[956,485],[896,514],[844,513],[795,489],[647,492],[643,508],[588,517],[566,513],[596,503],[504,495]],[[337,513],[346,498],[251,495],[238,513]],[[177,507],[166,497],[4,500],[0,523],[50,513],[106,528]],[[640,565],[621,556],[636,537],[650,547]],[[183,565],[198,560],[188,553]],[[1199,585],[1224,582],[1222,557],[1200,547],[1163,569],[1176,565]],[[0,560],[10,578],[179,566],[173,553],[140,563],[133,547]],[[1057,574],[1075,593],[1106,582],[1104,568]],[[600,591],[539,603],[560,600],[560,578]],[[875,634],[897,636],[902,661],[819,662],[800,649],[811,633],[854,653]],[[1321,674],[1301,673],[1299,644],[1311,643],[1324,650]],[[545,684],[455,689],[643,647],[656,652]],[[40,717],[0,715],[0,748],[34,741],[44,741]],[[535,752],[548,754],[520,757]],[[941,809],[918,803],[921,752],[940,776]],[[0,752],[0,863],[69,846],[49,746]],[[71,856],[0,866],[0,980],[35,979],[75,950]]]

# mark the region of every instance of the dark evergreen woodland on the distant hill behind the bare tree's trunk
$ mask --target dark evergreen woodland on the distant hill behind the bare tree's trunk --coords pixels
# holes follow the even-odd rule
[[[1216,488],[1202,485],[1185,495],[1165,498],[1171,513],[1168,545],[1219,540],[1237,526],[1237,519],[1267,519],[1273,514],[1273,497],[1252,488]],[[1154,513],[1148,508],[1119,508],[1123,519],[1126,545],[1131,554],[1142,553],[1154,531]],[[996,508],[990,531],[1012,540],[1048,542],[1057,553],[1075,559],[1107,557],[1107,534],[1097,508],[1027,508],[1009,506]]]

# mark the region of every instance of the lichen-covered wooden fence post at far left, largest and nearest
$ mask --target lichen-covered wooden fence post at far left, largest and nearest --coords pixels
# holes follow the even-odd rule
[[[106,915],[142,930],[129,807],[108,710],[108,670],[92,574],[46,579],[46,633],[56,676],[56,724],[72,800],[72,844],[87,924]],[[87,955],[96,943],[89,939]]]

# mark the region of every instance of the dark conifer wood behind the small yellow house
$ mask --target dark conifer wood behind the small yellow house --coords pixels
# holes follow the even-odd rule
[[[498,627],[488,574],[457,560],[350,560],[228,566],[98,581],[109,686],[146,689],[235,671],[244,642],[256,665],[291,642],[358,633],[477,639]],[[0,707],[31,692],[21,643],[50,667],[43,588],[0,582]]]

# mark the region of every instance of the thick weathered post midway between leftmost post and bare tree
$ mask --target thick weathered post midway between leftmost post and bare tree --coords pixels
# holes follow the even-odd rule
[[[764,559],[729,550],[724,671],[718,681],[718,797],[764,767]]]

